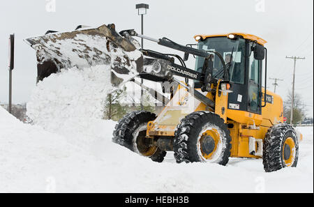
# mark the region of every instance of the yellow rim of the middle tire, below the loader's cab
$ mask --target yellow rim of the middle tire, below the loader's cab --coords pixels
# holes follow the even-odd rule
[[[206,160],[211,160],[220,144],[220,135],[216,129],[207,130],[200,138],[200,151]]]

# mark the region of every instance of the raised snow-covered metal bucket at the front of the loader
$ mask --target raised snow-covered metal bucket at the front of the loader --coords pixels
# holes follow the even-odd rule
[[[61,69],[110,65],[112,85],[119,86],[133,79],[143,68],[140,44],[133,38],[120,36],[114,24],[49,33],[25,41],[36,50],[38,80]]]

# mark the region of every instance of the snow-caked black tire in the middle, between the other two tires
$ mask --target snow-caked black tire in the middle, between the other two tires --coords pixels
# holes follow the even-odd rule
[[[202,155],[200,140],[208,127],[214,128],[220,139],[215,158],[207,159]],[[231,137],[223,118],[211,112],[193,112],[181,120],[174,134],[174,158],[177,162],[214,162],[225,165],[229,161]],[[207,136],[206,136],[207,137]],[[210,136],[209,136],[210,137]],[[216,146],[215,142],[215,146]]]

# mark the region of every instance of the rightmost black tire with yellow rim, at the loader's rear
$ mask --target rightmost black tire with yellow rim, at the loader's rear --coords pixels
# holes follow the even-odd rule
[[[292,138],[292,139],[290,139]],[[294,149],[290,151],[290,146],[288,147],[289,153],[285,153],[285,148],[287,147],[287,139],[294,141]],[[290,161],[287,164],[287,160]],[[286,123],[280,123],[274,125],[267,130],[263,144],[263,164],[264,170],[267,172],[277,171],[283,167],[297,167],[297,162],[299,158],[299,141],[297,139],[297,133],[291,125]]]

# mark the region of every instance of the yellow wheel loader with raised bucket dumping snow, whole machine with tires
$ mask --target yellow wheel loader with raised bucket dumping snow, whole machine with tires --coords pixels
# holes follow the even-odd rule
[[[141,49],[135,37],[184,52],[184,58]],[[117,33],[108,24],[25,41],[36,49],[38,81],[61,68],[110,64],[113,86],[133,81],[165,105],[158,115],[132,112],[116,125],[112,141],[135,153],[156,162],[174,151],[177,162],[262,158],[265,171],[296,167],[302,136],[283,123],[281,97],[266,90],[267,42],[248,33],[194,38],[196,44],[179,45],[132,29]],[[186,67],[189,55],[194,69]],[[170,99],[135,77],[162,83]]]

